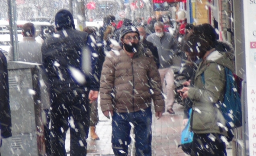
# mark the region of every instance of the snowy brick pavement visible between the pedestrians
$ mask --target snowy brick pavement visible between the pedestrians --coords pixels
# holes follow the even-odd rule
[[[100,122],[96,126],[96,131],[100,140],[91,140],[89,133],[87,156],[113,156],[111,148],[111,120],[104,117],[100,107],[98,108]],[[152,156],[187,156],[181,148],[177,148],[183,128],[183,106],[175,104],[173,109],[175,114],[164,113],[159,120],[153,116]],[[70,136],[67,135],[66,149],[69,148],[69,138]],[[230,149],[228,150],[228,156],[231,155]]]

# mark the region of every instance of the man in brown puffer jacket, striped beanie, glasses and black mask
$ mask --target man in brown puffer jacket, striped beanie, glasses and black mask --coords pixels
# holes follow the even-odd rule
[[[121,30],[121,46],[106,54],[100,77],[100,106],[112,115],[112,148],[116,156],[128,155],[131,122],[136,156],[151,156],[153,99],[156,117],[164,112],[161,80],[152,53],[140,45],[139,31],[131,23]]]

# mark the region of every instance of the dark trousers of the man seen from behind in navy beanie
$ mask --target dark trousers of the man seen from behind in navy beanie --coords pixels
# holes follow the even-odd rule
[[[90,123],[88,93],[52,94],[50,110],[51,156],[66,156],[66,126],[70,127],[70,156],[86,156]]]

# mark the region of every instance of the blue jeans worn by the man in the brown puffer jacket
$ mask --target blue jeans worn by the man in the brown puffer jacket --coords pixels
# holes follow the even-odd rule
[[[135,156],[151,156],[152,112],[150,107],[145,111],[113,113],[111,143],[115,156],[128,155],[128,145],[131,143],[129,122],[135,126]]]

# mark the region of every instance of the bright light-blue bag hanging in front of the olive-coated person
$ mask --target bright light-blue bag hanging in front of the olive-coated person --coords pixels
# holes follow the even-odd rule
[[[178,145],[178,147],[181,146],[181,149],[186,154],[191,153],[191,147],[193,142],[193,136],[194,132],[190,130],[190,120],[192,115],[192,108],[189,109],[189,120],[187,121],[187,124],[185,128],[181,132],[181,144]]]

